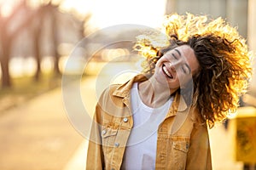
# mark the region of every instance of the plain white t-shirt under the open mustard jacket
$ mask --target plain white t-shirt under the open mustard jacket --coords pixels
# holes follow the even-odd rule
[[[172,105],[173,98],[158,108],[143,104],[137,89],[137,83],[131,88],[131,109],[133,128],[128,139],[122,169],[154,169],[157,131]]]

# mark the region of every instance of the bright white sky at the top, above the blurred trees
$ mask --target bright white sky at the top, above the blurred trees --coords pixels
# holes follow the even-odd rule
[[[0,0],[2,13],[8,15],[11,6],[17,2],[19,0]],[[61,8],[73,8],[81,14],[91,13],[92,24],[99,28],[119,24],[159,27],[165,14],[165,5],[166,0],[64,0]]]

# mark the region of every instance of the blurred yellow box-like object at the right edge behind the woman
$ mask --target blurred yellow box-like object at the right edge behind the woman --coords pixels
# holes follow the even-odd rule
[[[256,108],[240,107],[230,119],[236,161],[256,163]]]

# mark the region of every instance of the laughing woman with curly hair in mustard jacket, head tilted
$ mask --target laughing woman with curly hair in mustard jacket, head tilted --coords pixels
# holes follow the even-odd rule
[[[99,99],[87,169],[212,169],[207,127],[236,111],[252,54],[222,19],[172,14],[164,29],[138,37],[143,74]]]

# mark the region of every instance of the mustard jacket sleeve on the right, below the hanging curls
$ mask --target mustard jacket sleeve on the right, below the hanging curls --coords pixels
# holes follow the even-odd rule
[[[197,124],[192,130],[186,169],[212,169],[210,142],[206,126]]]

